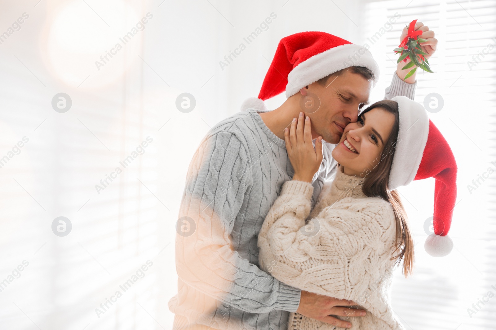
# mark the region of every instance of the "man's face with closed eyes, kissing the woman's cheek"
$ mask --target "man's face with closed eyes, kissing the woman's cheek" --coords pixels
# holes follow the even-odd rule
[[[310,84],[305,89],[307,95],[299,96],[302,97],[301,105],[305,100],[315,102],[315,97],[320,100],[320,106],[314,112],[308,107],[305,110],[306,106],[303,106],[305,114],[311,119],[312,138],[321,136],[329,143],[339,143],[346,125],[356,122],[360,109],[369,104],[372,84],[360,74],[347,70],[339,76],[329,77],[324,86]]]

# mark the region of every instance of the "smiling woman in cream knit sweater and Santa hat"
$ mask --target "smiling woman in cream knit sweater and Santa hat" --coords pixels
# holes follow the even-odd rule
[[[372,104],[356,123],[346,126],[332,152],[339,164],[336,177],[324,185],[310,214],[311,181],[322,160],[322,142],[318,138],[314,149],[310,118],[305,123],[302,116],[295,118],[285,132],[295,174],[283,185],[260,230],[262,269],[302,290],[355,301],[367,314],[354,318],[351,329],[404,329],[393,315],[389,289],[399,263],[405,277],[412,273],[414,244],[394,189],[408,184],[416,173],[429,172],[437,180],[448,175],[444,182],[456,178],[451,150],[444,139],[438,143],[439,136],[425,109],[404,96]],[[449,158],[449,166],[437,166],[443,163],[437,153]],[[402,163],[393,162],[395,157]],[[431,173],[423,164],[442,171]],[[436,183],[436,196],[438,190]],[[450,219],[451,215],[439,221],[449,229]],[[444,238],[448,237],[442,237],[443,243]],[[291,313],[288,328],[335,329],[328,321]]]

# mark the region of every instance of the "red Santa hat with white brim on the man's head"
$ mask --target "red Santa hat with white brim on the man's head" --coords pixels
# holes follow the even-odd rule
[[[286,91],[286,97],[331,73],[350,66],[365,66],[379,78],[379,67],[372,53],[325,32],[300,32],[281,39],[263,80],[258,98],[250,97],[242,110],[265,109],[264,100]]]

